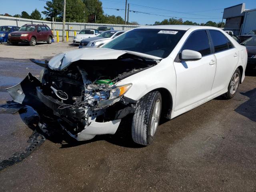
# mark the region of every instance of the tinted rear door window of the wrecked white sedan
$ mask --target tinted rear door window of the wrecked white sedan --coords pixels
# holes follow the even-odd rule
[[[226,36],[224,36],[222,32],[216,30],[209,30],[209,32],[212,38],[215,52],[228,50],[228,42]]]

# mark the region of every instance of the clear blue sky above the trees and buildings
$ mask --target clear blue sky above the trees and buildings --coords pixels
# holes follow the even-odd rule
[[[124,10],[118,11],[108,8],[125,9],[125,0],[101,1],[105,14],[124,18]],[[35,8],[42,12],[46,5],[46,2],[40,0],[0,0],[0,2],[2,2],[0,14],[8,13],[11,15],[21,14],[22,11],[31,14]],[[130,4],[130,10],[137,11],[129,13],[129,21],[136,21],[139,24],[154,24],[155,21],[162,21],[170,17],[182,18],[183,21],[190,20],[197,23],[205,23],[209,20],[221,22],[224,8],[241,3],[245,3],[246,9],[256,8],[255,0],[128,0],[128,3]],[[138,12],[150,13],[151,15]],[[44,17],[43,14],[42,16]]]

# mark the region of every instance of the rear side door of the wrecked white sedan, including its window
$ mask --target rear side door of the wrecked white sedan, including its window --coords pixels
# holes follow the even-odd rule
[[[209,30],[214,55],[216,57],[216,75],[212,86],[212,94],[228,87],[233,71],[238,63],[239,52],[234,45],[218,30]]]

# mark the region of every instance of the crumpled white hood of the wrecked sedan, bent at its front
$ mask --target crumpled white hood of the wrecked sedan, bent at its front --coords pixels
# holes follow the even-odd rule
[[[52,70],[63,70],[78,60],[111,60],[117,59],[126,53],[154,60],[162,60],[160,57],[133,51],[114,50],[108,48],[83,48],[59,53],[50,59],[48,66]]]

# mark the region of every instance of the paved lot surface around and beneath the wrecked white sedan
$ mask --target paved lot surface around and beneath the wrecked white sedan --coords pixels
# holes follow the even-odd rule
[[[1,104],[11,99],[4,88],[29,71],[39,74],[40,67],[27,60],[30,54],[48,58],[77,48],[40,46],[18,46],[11,52],[12,47],[0,45],[0,52],[9,54],[0,58]],[[25,48],[30,52],[22,54]],[[29,109],[23,114],[0,114],[0,161],[28,145],[32,130],[26,118],[32,113]],[[254,192],[256,72],[246,76],[232,100],[216,98],[162,122],[151,146],[139,148],[130,135],[120,134],[80,143],[64,140],[63,135],[49,138],[26,160],[0,171],[0,191]]]

